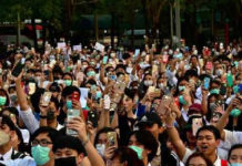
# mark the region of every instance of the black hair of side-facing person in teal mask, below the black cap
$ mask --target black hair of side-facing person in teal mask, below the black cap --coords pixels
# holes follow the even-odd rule
[[[154,136],[145,129],[135,131],[130,135],[130,137],[132,135],[135,135],[137,142],[139,144],[143,145],[144,148],[151,151],[151,153],[148,155],[149,162],[151,162],[155,156],[159,146]]]

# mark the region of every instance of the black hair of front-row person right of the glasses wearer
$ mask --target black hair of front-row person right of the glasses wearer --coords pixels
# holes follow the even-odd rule
[[[78,154],[87,154],[81,141],[78,137],[73,137],[70,135],[62,135],[56,139],[56,142],[53,143],[53,152],[56,153],[57,149],[60,148],[71,148],[77,151]]]

